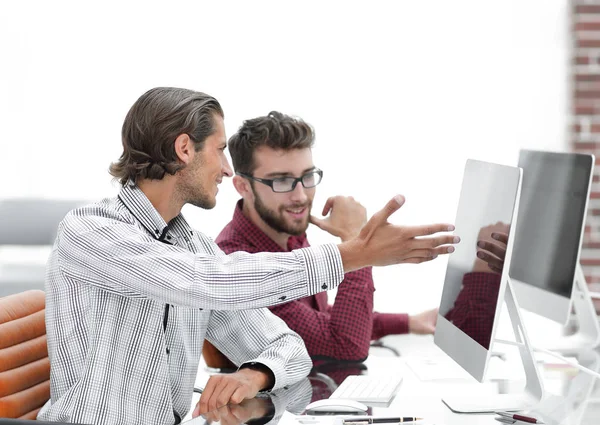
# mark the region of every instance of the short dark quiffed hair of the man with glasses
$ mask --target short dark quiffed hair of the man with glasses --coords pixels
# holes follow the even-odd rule
[[[254,151],[267,146],[276,150],[312,148],[314,129],[300,118],[272,111],[265,117],[246,120],[229,139],[233,168],[238,173],[252,174],[256,168]]]

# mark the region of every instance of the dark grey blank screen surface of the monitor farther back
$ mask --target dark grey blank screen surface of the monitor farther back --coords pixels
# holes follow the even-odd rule
[[[589,155],[522,151],[511,277],[570,298],[592,172]]]

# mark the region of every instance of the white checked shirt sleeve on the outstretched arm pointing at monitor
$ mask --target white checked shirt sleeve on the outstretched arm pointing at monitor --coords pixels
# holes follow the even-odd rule
[[[55,244],[61,273],[129,297],[210,310],[281,304],[338,286],[336,245],[290,253],[192,253],[114,218],[69,214]]]

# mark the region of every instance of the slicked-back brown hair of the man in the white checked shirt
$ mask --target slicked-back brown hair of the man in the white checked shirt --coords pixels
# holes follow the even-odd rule
[[[123,153],[110,165],[110,174],[122,185],[137,178],[161,180],[184,165],[174,141],[188,134],[196,151],[215,131],[215,115],[224,117],[219,102],[207,94],[175,87],[156,87],[144,93],[123,122]]]

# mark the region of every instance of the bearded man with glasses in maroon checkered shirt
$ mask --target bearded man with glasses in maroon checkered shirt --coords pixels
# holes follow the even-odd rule
[[[279,112],[245,121],[229,140],[242,196],[233,220],[216,242],[226,253],[287,252],[308,247],[309,222],[341,238],[353,239],[367,222],[365,208],[352,197],[327,200],[325,219],[311,217],[323,171],[315,167],[312,128]],[[313,359],[362,361],[371,340],[390,334],[433,333],[437,309],[409,316],[373,312],[370,267],[345,275],[333,305],[319,293],[270,307],[306,344]]]

